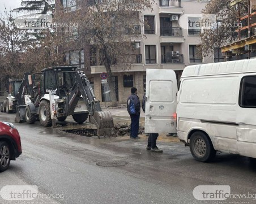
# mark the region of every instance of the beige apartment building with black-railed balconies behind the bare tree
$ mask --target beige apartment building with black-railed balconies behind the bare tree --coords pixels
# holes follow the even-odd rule
[[[61,0],[59,0],[61,1]],[[142,34],[135,40],[135,51],[127,54],[126,60],[131,63],[128,69],[117,64],[112,67],[116,96],[119,103],[126,103],[130,88],[138,88],[142,99],[146,87],[146,69],[172,69],[179,81],[182,71],[191,64],[211,63],[218,61],[215,55],[203,58],[199,54],[197,45],[200,44],[200,28],[181,27],[190,22],[199,21],[203,8],[209,1],[198,0],[158,0],[153,5],[153,11],[142,11],[143,21],[147,26],[135,25],[137,32]],[[72,0],[62,0],[61,4],[69,8],[70,12],[79,9]],[[58,9],[58,6],[56,6]],[[96,98],[106,104],[111,104],[109,86],[106,80],[101,80],[101,73],[106,72],[99,60],[92,60],[92,53],[96,50],[62,50],[66,54],[66,63],[78,66],[86,71],[94,88]],[[88,56],[90,53],[90,57]]]

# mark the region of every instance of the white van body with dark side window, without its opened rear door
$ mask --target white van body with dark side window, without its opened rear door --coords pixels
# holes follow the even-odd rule
[[[177,133],[202,162],[217,150],[256,158],[256,59],[186,67]]]

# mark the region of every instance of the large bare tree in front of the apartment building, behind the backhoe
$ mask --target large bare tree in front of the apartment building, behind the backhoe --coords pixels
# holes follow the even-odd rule
[[[125,55],[133,53],[133,42],[142,38],[142,10],[152,10],[150,0],[91,0],[82,11],[69,13],[78,23],[78,46],[91,45],[98,62],[104,64],[113,106],[117,106],[112,67],[117,60],[125,64]],[[127,68],[124,66],[124,69]]]

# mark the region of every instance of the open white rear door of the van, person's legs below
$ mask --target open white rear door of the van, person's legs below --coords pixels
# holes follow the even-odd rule
[[[173,70],[147,69],[146,133],[177,133],[177,79]]]

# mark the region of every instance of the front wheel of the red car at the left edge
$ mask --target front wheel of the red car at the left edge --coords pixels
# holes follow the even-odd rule
[[[7,170],[11,158],[10,147],[7,142],[0,142],[0,172]]]

